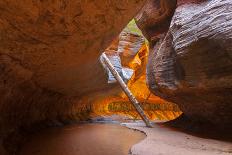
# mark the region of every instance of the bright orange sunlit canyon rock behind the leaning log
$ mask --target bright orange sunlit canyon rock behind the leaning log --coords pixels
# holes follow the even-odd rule
[[[129,36],[129,33],[127,33],[127,36]],[[178,106],[153,95],[146,85],[148,47],[145,41],[143,40],[143,43],[140,42],[141,46],[135,53],[132,51],[133,46],[127,45],[125,42],[123,43],[125,48],[118,47],[120,46],[120,42],[122,42],[121,40],[118,40],[119,38],[116,38],[105,52],[109,56],[120,55],[122,65],[134,70],[134,74],[128,81],[127,85],[141,103],[146,115],[152,120],[170,120],[178,117],[182,113]],[[133,39],[135,39],[134,34]],[[139,39],[137,38],[137,40]],[[127,43],[129,44],[130,41],[127,40]],[[119,49],[120,52],[118,52]],[[122,49],[124,49],[124,51]],[[133,119],[139,118],[139,115],[120,87],[85,96],[83,98],[83,103],[78,105],[82,106],[82,108],[78,107],[78,109],[83,109],[79,110],[79,115],[95,117],[119,114]],[[87,113],[86,111],[90,111],[90,113]]]

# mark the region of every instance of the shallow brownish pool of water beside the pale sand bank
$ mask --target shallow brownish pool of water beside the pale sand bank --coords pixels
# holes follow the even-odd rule
[[[34,135],[19,155],[127,155],[145,135],[118,124],[80,124]]]

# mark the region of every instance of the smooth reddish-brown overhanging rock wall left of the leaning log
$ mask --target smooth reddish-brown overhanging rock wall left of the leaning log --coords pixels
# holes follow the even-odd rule
[[[106,90],[100,53],[145,0],[0,0],[0,133],[73,117]]]

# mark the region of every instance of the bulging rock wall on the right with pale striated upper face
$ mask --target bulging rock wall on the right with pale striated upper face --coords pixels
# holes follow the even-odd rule
[[[226,127],[232,124],[231,11],[230,0],[177,1],[166,32],[156,29],[160,22],[156,33],[144,30],[156,38],[147,66],[152,92],[193,120]]]

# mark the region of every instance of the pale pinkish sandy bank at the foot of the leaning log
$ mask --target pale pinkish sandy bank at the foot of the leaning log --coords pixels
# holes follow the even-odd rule
[[[200,138],[160,125],[146,128],[142,122],[122,125],[147,135],[131,148],[133,155],[232,155],[230,142]]]

